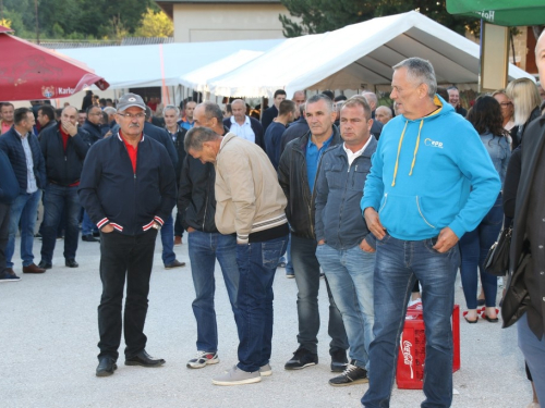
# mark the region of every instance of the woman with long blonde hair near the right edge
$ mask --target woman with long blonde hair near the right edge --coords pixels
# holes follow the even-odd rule
[[[517,127],[512,128],[511,137],[512,148],[516,149],[522,141],[528,124],[541,115],[540,103],[542,100],[537,86],[529,78],[511,81],[506,88],[506,95],[514,106],[514,124]]]

